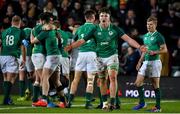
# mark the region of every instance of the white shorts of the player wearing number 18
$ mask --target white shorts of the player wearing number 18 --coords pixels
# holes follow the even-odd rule
[[[19,63],[13,56],[0,56],[0,65],[2,73],[18,73]]]

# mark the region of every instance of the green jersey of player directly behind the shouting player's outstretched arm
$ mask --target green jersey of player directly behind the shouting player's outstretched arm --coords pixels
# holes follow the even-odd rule
[[[84,38],[87,33],[93,31],[96,26],[93,23],[86,22],[84,25],[80,26],[76,31],[76,35],[78,35],[78,39]],[[90,37],[86,40],[86,43],[79,47],[79,52],[96,52],[96,42],[93,37]]]

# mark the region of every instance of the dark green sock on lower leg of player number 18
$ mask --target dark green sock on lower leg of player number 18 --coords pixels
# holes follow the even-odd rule
[[[4,99],[10,98],[12,83],[4,81]]]

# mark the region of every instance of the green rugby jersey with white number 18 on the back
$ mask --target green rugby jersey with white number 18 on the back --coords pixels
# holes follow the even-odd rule
[[[14,56],[19,58],[21,53],[22,40],[25,38],[23,30],[17,27],[9,27],[2,32],[1,55]]]

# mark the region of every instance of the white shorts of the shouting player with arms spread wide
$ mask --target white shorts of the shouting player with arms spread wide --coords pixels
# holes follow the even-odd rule
[[[117,54],[114,54],[107,58],[98,57],[98,62],[99,71],[104,71],[107,69],[119,69],[119,59]]]

